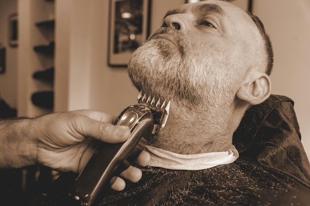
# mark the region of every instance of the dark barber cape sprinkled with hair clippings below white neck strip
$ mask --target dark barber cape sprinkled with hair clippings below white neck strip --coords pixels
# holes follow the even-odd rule
[[[101,194],[100,206],[309,206],[310,186],[278,169],[240,157],[202,170],[141,168],[138,183]]]

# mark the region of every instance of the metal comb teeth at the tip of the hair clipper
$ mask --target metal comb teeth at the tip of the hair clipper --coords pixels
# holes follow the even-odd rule
[[[161,112],[164,113],[162,120],[159,123],[160,129],[162,129],[166,125],[166,122],[167,122],[167,119],[169,116],[169,110],[170,110],[171,102],[170,101],[167,102],[166,100],[164,100],[161,103],[160,98],[157,100],[157,99],[155,99],[155,97],[152,97],[151,95],[148,96],[146,93],[143,94],[142,91],[140,91],[140,93],[137,97],[137,100],[140,104],[148,105],[148,106],[152,107],[153,109],[160,110]]]

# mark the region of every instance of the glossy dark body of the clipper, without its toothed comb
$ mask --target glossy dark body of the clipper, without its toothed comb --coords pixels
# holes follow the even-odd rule
[[[142,114],[141,111],[134,111],[135,106],[125,109],[115,122],[117,125],[127,125],[131,128],[129,139],[118,144],[101,143],[76,179],[71,195],[82,206],[93,204],[99,192],[106,184],[109,184],[117,166],[129,157],[140,139],[152,131],[154,127],[152,113],[144,111]],[[128,121],[125,123],[125,113],[136,113],[137,118],[132,125],[128,125]]]

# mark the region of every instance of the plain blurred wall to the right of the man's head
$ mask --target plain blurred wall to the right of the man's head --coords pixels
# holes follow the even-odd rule
[[[272,93],[292,98],[310,157],[310,1],[253,0],[274,49]]]

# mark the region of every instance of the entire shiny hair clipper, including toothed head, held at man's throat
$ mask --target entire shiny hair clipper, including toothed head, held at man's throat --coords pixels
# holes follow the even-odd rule
[[[135,160],[143,150],[145,140],[165,126],[169,115],[170,101],[160,103],[160,99],[156,101],[155,98],[143,95],[142,92],[137,99],[138,104],[124,109],[114,123],[130,128],[129,139],[119,144],[101,143],[77,177],[73,192],[69,196],[80,205],[91,206],[99,192],[105,187],[110,187],[109,181],[115,175],[115,171],[128,168],[129,162]],[[144,137],[144,141],[141,139],[142,137]],[[144,146],[139,146],[139,142],[140,144],[143,142]]]

